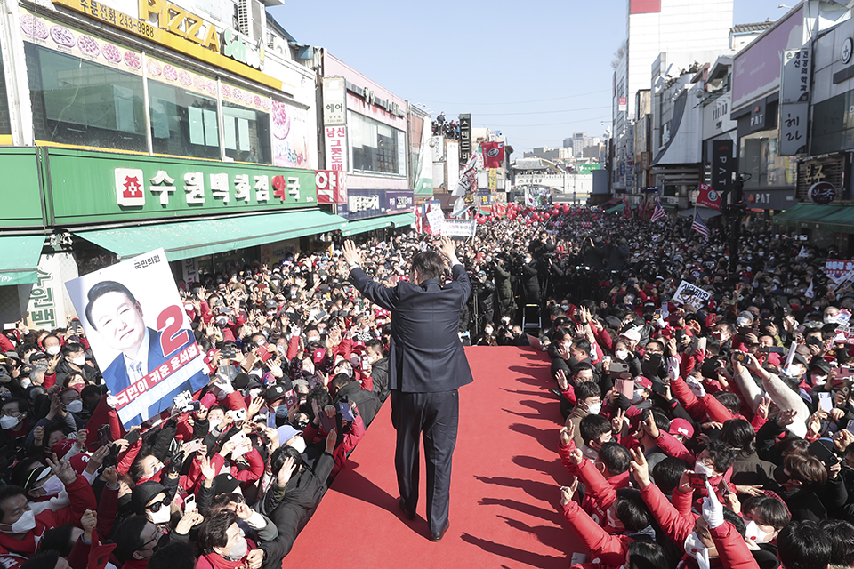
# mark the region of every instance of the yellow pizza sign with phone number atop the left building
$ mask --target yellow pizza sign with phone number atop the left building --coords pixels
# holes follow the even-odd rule
[[[101,20],[102,22],[109,24],[110,26],[114,26],[116,28],[124,29],[134,36],[141,36],[146,39],[149,39],[157,44],[165,45],[168,48],[175,50],[176,52],[186,53],[190,57],[193,57],[197,60],[204,61],[208,64],[213,64],[219,68],[227,69],[232,73],[236,73],[239,76],[244,76],[247,79],[250,79],[258,84],[267,85],[268,87],[275,89],[276,91],[288,92],[293,94],[294,88],[292,85],[286,85],[282,83],[281,80],[276,79],[275,77],[271,77],[258,71],[257,69],[251,68],[243,63],[239,63],[236,60],[232,60],[229,57],[222,55],[222,53],[214,52],[213,47],[215,45],[215,49],[220,49],[220,40],[219,36],[216,36],[216,29],[214,26],[208,24],[207,28],[202,29],[204,22],[201,22],[201,19],[197,18],[189,12],[181,11],[182,14],[172,13],[169,14],[170,11],[173,11],[173,4],[168,4],[165,0],[153,0],[157,2],[159,5],[166,6],[167,12],[167,20],[165,22],[165,29],[170,29],[170,25],[174,23],[174,25],[181,26],[189,26],[189,28],[185,28],[181,30],[180,35],[175,35],[173,33],[169,33],[164,29],[159,29],[155,26],[152,26],[147,21],[138,20],[133,18],[132,16],[128,16],[124,12],[118,12],[114,8],[110,8],[106,4],[101,4],[100,2],[96,2],[96,0],[53,0],[53,4],[61,4],[63,6],[68,6],[71,10],[76,12],[84,13],[87,16],[95,18],[96,20]],[[141,4],[146,4],[147,0],[141,0]],[[162,3],[162,4],[160,4]],[[146,4],[148,5],[148,4]],[[151,10],[151,13],[157,13],[158,18],[162,18],[163,12],[158,10]],[[148,11],[142,12],[148,14]],[[178,20],[180,15],[180,20]],[[173,21],[174,20],[174,21]],[[158,20],[159,23],[160,20]],[[199,23],[201,22],[201,23]],[[195,39],[185,39],[190,36],[190,32],[193,32],[192,36]],[[212,37],[213,36],[213,39]],[[207,45],[208,47],[205,47]],[[209,49],[211,48],[211,49]],[[290,87],[290,89],[286,89]]]

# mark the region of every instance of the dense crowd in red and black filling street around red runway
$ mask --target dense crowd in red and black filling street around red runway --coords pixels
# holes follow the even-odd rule
[[[825,274],[840,253],[748,226],[729,272],[725,235],[584,208],[457,243],[463,344],[551,357],[577,566],[854,565],[838,332],[854,292]],[[394,286],[432,242],[365,241],[359,265]],[[391,314],[348,276],[331,248],[179,283],[210,382],[190,411],[130,430],[76,320],[5,330],[0,563],[280,566],[390,396]],[[683,280],[708,301],[674,301]]]

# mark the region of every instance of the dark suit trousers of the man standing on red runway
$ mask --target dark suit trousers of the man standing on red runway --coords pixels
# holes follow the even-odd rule
[[[459,426],[460,399],[457,390],[436,393],[391,391],[391,423],[397,430],[394,468],[398,489],[407,510],[418,504],[419,437],[424,437],[427,462],[427,524],[441,532],[447,523],[450,503],[451,459]]]

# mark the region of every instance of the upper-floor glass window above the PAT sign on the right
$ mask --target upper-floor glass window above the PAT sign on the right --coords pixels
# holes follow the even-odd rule
[[[739,168],[750,174],[746,188],[794,186],[796,164],[789,156],[779,156],[777,131],[753,132],[741,137]]]

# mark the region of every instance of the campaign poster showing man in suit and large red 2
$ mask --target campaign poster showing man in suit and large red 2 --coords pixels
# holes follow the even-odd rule
[[[125,429],[208,382],[163,249],[66,283]]]

